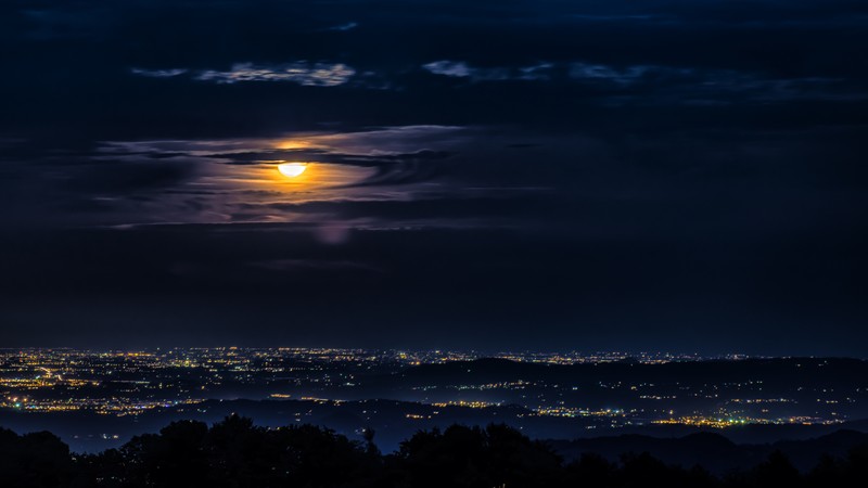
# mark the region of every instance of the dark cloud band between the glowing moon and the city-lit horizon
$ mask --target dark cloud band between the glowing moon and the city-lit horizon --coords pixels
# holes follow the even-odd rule
[[[697,245],[431,229],[352,231],[322,245],[314,228],[289,224],[79,231],[11,241],[27,253],[4,273],[5,299],[15,297],[4,313],[16,334],[135,324],[124,336],[80,335],[82,345],[316,344],[324,339],[312,331],[328,328],[330,344],[371,347],[516,347],[522,337],[551,348],[551,336],[580,334],[569,347],[592,348],[612,347],[614,328],[624,348],[860,354],[831,335],[804,343],[818,320],[828,334],[858,328],[858,288],[817,254],[855,257],[860,239]],[[53,313],[22,293],[44,296],[46,275]],[[710,333],[715,347],[695,343]]]

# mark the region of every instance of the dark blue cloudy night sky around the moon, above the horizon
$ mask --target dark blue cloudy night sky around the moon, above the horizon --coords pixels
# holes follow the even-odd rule
[[[864,0],[5,0],[0,47],[2,347],[868,356]]]

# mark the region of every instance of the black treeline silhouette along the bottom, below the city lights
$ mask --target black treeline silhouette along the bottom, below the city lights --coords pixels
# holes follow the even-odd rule
[[[355,441],[312,425],[266,428],[231,415],[208,427],[174,422],[159,434],[118,449],[71,453],[42,432],[0,428],[2,487],[864,487],[868,446],[825,457],[800,473],[774,452],[751,470],[714,476],[701,466],[673,466],[648,453],[620,462],[583,454],[564,462],[551,448],[507,425],[454,425],[421,431],[383,454],[374,433]]]

